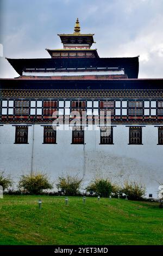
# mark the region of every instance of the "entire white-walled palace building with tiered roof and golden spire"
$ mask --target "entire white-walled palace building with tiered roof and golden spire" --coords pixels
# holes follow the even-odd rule
[[[139,58],[100,58],[93,34],[59,34],[51,58],[10,59],[0,79],[0,170],[163,182],[163,79],[139,79]],[[82,119],[83,117],[83,119]],[[105,127],[105,128],[104,128]],[[72,130],[73,128],[73,130]],[[105,129],[105,130],[104,130]]]

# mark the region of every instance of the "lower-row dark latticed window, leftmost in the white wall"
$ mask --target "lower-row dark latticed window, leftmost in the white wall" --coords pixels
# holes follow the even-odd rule
[[[28,127],[16,126],[15,143],[26,144],[28,143]]]

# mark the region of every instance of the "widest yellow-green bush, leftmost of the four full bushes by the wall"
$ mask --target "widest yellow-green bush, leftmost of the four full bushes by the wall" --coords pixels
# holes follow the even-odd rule
[[[18,181],[18,188],[31,194],[40,194],[43,190],[51,190],[53,184],[49,182],[47,174],[34,173],[22,175]]]

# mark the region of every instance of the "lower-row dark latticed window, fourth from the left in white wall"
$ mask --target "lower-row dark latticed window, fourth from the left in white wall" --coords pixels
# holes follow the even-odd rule
[[[100,130],[100,143],[113,144],[113,132],[111,126],[102,127]]]

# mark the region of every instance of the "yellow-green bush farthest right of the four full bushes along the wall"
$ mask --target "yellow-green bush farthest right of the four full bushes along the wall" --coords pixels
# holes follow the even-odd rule
[[[124,181],[122,192],[131,200],[141,200],[146,194],[146,188],[135,181]]]

